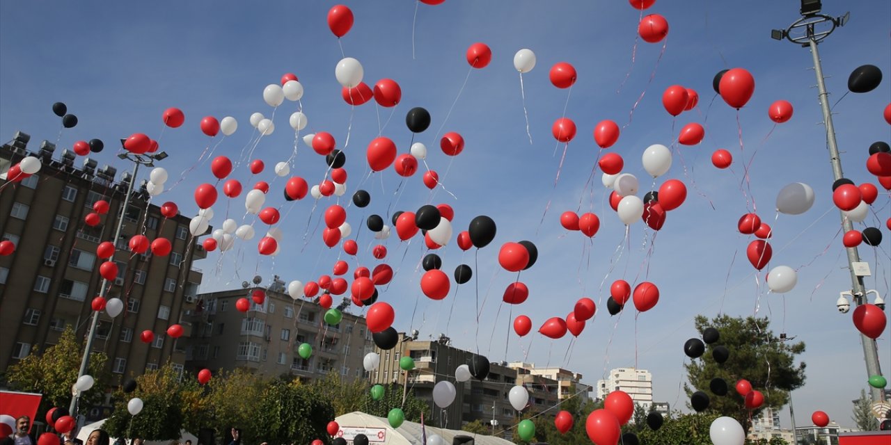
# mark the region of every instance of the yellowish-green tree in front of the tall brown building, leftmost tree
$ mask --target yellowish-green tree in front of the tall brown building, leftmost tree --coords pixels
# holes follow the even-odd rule
[[[81,353],[84,347],[78,344],[74,330],[65,328],[59,336],[59,343],[40,353],[37,347],[28,357],[9,367],[6,381],[12,389],[22,392],[39,392],[44,395],[37,409],[38,418],[53,407],[68,408],[71,402],[71,386],[78,381]],[[108,356],[104,352],[90,354],[87,372],[94,378],[93,388],[80,396],[80,411],[102,403],[105,388],[109,387],[110,376],[105,369]]]

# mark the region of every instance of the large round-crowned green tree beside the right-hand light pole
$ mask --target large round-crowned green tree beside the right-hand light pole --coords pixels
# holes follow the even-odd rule
[[[684,390],[688,395],[694,391],[710,393],[709,383],[721,377],[728,386],[726,396],[710,395],[708,412],[733,417],[740,422],[748,435],[751,418],[764,408],[781,409],[789,402],[789,392],[805,384],[805,363],[796,365],[797,354],[805,352],[804,342],[788,343],[774,336],[768,329],[767,318],[718,316],[708,320],[701,315],[696,317],[696,330],[701,334],[706,328],[716,328],[721,334],[715,344],[707,345],[706,353],[700,359],[684,365],[687,380]],[[730,359],[719,364],[712,356],[714,348],[723,345],[730,350]],[[733,390],[740,379],[752,384],[752,389],[764,394],[764,404],[759,409],[749,410],[744,399]]]

